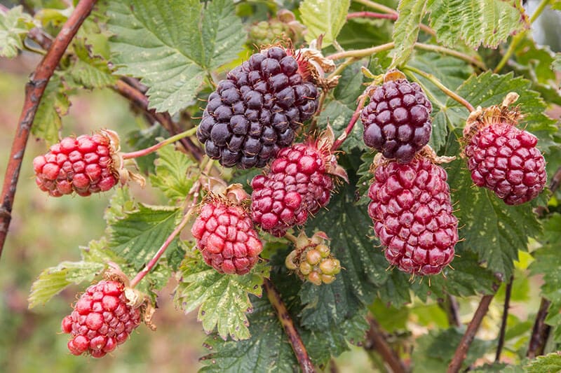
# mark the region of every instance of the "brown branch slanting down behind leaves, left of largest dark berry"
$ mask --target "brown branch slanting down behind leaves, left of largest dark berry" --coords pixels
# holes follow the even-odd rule
[[[119,92],[121,96],[125,97],[129,101],[133,102],[133,104],[137,107],[145,111],[152,120],[159,122],[170,134],[175,135],[182,132],[182,130],[177,126],[177,123],[172,120],[168,113],[156,113],[154,109],[149,109],[148,97],[146,97],[144,93],[140,92],[140,90],[137,90],[137,88],[129,85],[123,80],[118,80],[113,88],[116,92]],[[201,148],[196,146],[193,141],[187,138],[181,139],[180,142],[185,150],[191,153],[198,162],[201,162],[203,159],[203,150],[201,150]]]

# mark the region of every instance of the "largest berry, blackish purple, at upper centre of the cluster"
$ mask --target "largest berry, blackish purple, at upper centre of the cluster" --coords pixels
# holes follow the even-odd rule
[[[208,97],[197,138],[225,167],[264,167],[292,145],[295,131],[318,108],[308,64],[273,47],[231,70]]]

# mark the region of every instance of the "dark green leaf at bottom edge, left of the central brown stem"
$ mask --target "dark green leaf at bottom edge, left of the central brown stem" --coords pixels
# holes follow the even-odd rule
[[[224,341],[218,335],[206,339],[210,350],[201,358],[201,372],[297,372],[298,363],[269,300],[251,297],[250,334],[244,341]]]

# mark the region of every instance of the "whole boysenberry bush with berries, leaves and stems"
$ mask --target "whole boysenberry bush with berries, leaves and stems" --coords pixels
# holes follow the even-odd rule
[[[119,360],[171,283],[205,372],[337,372],[350,349],[379,371],[561,370],[561,56],[532,34],[560,1],[23,3],[0,6],[0,56],[40,56],[0,253],[20,170],[65,209],[111,196],[82,259],[35,274],[29,308],[76,293],[49,355]],[[147,128],[63,126],[82,90]]]

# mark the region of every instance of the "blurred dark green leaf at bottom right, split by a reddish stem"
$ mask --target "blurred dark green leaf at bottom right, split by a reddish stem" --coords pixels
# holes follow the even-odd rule
[[[454,351],[463,337],[457,329],[431,330],[428,334],[417,338],[413,351],[414,373],[445,372]],[[493,341],[473,339],[463,367],[468,367],[493,346]]]

